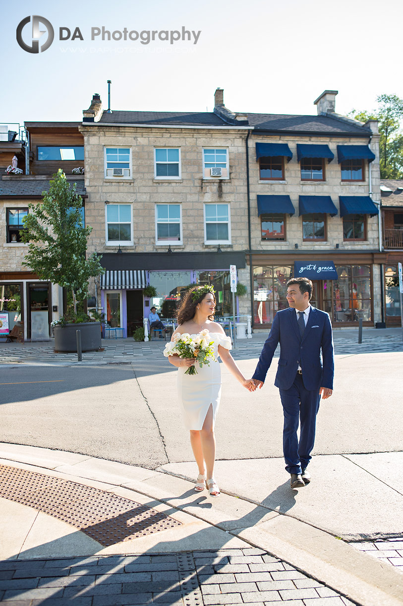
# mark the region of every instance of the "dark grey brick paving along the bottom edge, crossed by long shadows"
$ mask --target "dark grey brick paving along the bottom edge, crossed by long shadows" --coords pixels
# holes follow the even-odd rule
[[[2,561],[0,601],[12,606],[354,604],[255,548]]]

